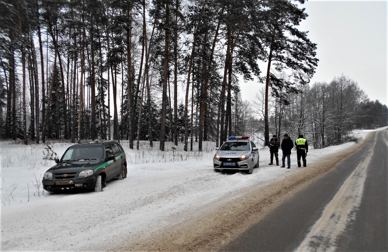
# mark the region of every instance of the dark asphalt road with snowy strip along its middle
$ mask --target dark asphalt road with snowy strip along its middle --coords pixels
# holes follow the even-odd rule
[[[388,130],[222,251],[388,251]]]

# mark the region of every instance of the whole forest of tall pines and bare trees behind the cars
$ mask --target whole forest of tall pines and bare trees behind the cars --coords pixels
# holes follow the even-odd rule
[[[262,131],[268,142],[287,131],[324,147],[353,125],[386,124],[376,118],[386,106],[345,76],[307,85],[318,59],[297,28],[303,2],[0,0],[0,135],[202,150],[229,135]],[[255,102],[241,101],[241,78],[265,83]]]

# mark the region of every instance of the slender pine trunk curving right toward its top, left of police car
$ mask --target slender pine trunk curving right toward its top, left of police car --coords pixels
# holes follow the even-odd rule
[[[205,6],[206,6],[206,0],[204,0],[204,3],[203,3],[203,7],[201,9],[201,13],[199,14],[200,16],[202,15],[204,9],[205,9]],[[198,31],[199,31],[199,26],[201,25],[201,18],[198,19],[198,23],[197,23],[197,27],[194,31],[194,40],[193,40],[193,45],[192,45],[192,49],[191,49],[191,55],[190,55],[190,62],[189,62],[189,71],[187,72],[187,83],[186,83],[186,97],[185,97],[185,146],[184,146],[184,151],[187,151],[187,142],[188,142],[188,138],[189,138],[189,129],[188,129],[188,123],[187,123],[187,106],[189,104],[189,88],[190,88],[190,75],[191,75],[191,68],[192,68],[192,63],[193,63],[193,59],[194,59],[194,52],[195,52],[195,47],[196,47],[196,43],[197,43],[197,37],[198,37]],[[199,143],[200,147],[200,151],[202,151],[202,142]]]

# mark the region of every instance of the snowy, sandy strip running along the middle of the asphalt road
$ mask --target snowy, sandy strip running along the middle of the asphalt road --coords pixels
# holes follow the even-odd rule
[[[295,251],[336,251],[337,237],[345,231],[348,221],[356,218],[356,210],[361,204],[367,167],[372,159],[376,135],[367,157],[346,179],[331,202],[327,204],[320,219],[312,226]]]

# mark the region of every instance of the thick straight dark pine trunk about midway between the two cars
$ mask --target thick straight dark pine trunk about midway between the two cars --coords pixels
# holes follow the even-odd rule
[[[165,21],[165,64],[163,74],[163,95],[162,95],[162,118],[160,127],[160,145],[161,151],[165,150],[165,130],[166,130],[166,104],[167,104],[167,78],[168,78],[168,42],[170,38],[169,19],[170,19],[170,0],[166,1],[166,21]],[[190,67],[189,67],[190,69]],[[189,70],[190,71],[190,70]],[[186,106],[187,107],[187,106]],[[186,109],[187,110],[187,109]]]

